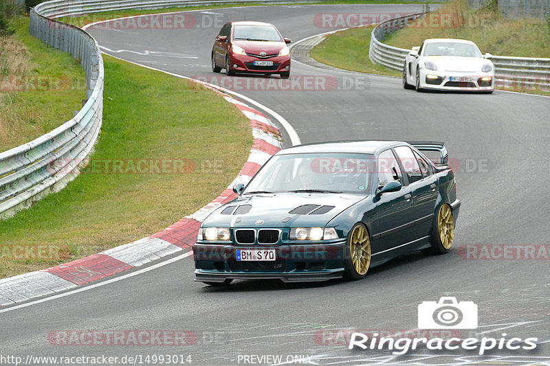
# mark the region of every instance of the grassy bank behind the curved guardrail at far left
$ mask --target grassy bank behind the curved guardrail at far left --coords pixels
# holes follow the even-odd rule
[[[0,36],[0,151],[60,126],[82,108],[86,77],[80,63],[29,34],[29,19],[12,19]]]

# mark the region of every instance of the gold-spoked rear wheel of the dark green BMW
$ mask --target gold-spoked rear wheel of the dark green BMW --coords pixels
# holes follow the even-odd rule
[[[443,203],[435,213],[432,224],[432,247],[422,249],[423,254],[449,253],[454,238],[454,221],[452,209],[448,203]]]

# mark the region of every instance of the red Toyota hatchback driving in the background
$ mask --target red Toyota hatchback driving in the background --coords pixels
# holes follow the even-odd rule
[[[212,71],[225,69],[235,73],[278,73],[290,76],[290,51],[287,43],[271,23],[234,21],[221,27],[212,47]]]

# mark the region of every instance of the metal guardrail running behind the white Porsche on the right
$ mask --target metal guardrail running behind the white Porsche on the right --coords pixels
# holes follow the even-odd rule
[[[373,63],[384,65],[388,69],[403,70],[405,58],[410,49],[393,47],[382,43],[386,34],[400,30],[419,16],[412,14],[391,19],[377,25],[371,34],[371,49],[369,58]],[[550,89],[550,58],[529,58],[511,56],[492,56],[495,67],[495,81],[498,84],[507,84],[525,89]]]

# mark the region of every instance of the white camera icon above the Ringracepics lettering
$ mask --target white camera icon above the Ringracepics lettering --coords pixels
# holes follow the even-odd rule
[[[473,301],[457,302],[456,297],[423,301],[418,306],[420,329],[475,329],[477,305]]]

